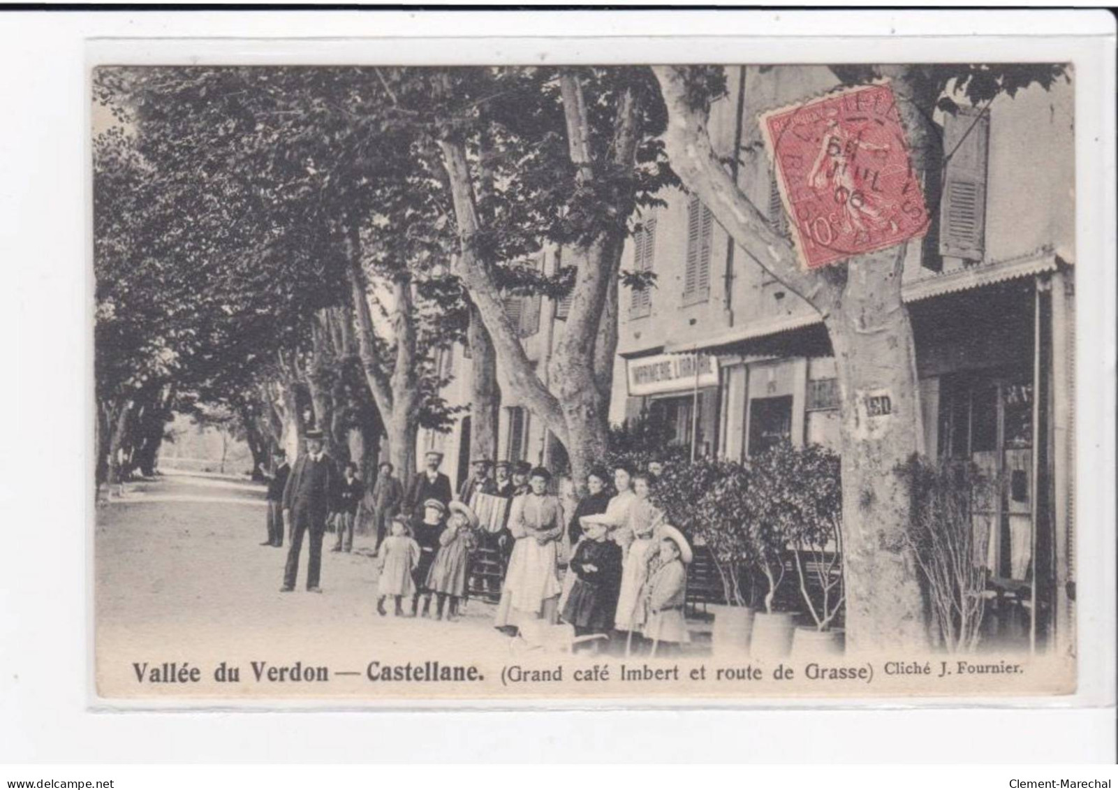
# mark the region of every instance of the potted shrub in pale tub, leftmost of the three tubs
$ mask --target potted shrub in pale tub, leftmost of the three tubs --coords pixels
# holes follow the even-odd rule
[[[710,551],[722,583],[723,604],[714,604],[711,633],[716,653],[746,656],[754,626],[752,585],[742,577],[752,559],[749,539],[749,472],[739,463],[721,464],[717,479],[693,508],[695,537]]]

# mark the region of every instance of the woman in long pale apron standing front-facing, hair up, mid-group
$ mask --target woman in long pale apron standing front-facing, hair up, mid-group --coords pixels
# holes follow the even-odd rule
[[[559,498],[547,492],[551,472],[532,470],[530,490],[512,502],[509,532],[515,544],[501,590],[494,626],[519,628],[524,619],[553,623],[562,586],[556,572],[563,517]]]

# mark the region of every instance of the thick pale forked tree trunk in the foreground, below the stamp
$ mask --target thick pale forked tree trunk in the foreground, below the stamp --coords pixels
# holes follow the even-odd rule
[[[664,142],[680,179],[750,257],[819,312],[831,337],[842,422],[847,645],[925,647],[927,608],[904,540],[909,498],[898,474],[922,435],[916,346],[901,300],[907,245],[824,270],[802,269],[790,244],[722,167],[708,110],[689,94],[684,69],[653,70],[669,112]]]

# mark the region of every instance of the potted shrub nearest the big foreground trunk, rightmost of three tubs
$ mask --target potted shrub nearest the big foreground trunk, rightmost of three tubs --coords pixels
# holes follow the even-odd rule
[[[793,557],[799,594],[814,621],[797,628],[794,656],[843,652],[835,628],[845,601],[843,585],[842,483],[839,457],[819,445],[789,450],[784,458],[788,506],[793,511]],[[814,586],[813,595],[808,587]]]

